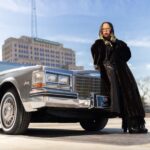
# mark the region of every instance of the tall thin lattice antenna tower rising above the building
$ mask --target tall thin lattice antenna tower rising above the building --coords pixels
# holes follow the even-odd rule
[[[37,38],[36,0],[31,1],[31,37]]]

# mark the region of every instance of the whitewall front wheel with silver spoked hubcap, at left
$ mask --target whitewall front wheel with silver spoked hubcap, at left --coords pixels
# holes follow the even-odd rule
[[[0,104],[2,130],[6,134],[22,134],[30,122],[30,113],[25,112],[15,89],[8,90]]]

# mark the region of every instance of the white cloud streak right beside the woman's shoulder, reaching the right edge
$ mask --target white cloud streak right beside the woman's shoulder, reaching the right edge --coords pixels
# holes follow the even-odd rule
[[[127,41],[129,46],[133,47],[144,47],[144,48],[150,48],[150,37],[148,38],[141,38],[141,39],[133,39]]]

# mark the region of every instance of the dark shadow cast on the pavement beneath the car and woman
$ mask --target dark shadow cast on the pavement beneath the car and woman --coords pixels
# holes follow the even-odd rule
[[[3,134],[0,129],[0,134]],[[17,136],[17,135],[15,135]],[[22,137],[22,135],[21,135]],[[41,138],[41,140],[63,140],[83,143],[103,143],[111,145],[143,145],[150,143],[148,134],[128,134],[121,129],[105,128],[99,132],[86,132],[84,130],[72,129],[40,129],[29,128],[23,135],[25,138]]]

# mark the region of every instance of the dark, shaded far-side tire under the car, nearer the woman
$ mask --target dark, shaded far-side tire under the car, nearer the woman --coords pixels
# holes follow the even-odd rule
[[[81,127],[86,131],[100,131],[108,122],[108,118],[101,118],[99,120],[84,120],[80,122]]]

